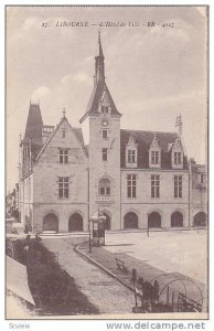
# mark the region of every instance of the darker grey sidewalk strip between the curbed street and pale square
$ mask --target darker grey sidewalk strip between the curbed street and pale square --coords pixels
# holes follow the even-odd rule
[[[129,245],[127,244],[126,246],[128,247]],[[131,290],[133,290],[133,286],[130,280],[131,270],[135,268],[137,270],[138,278],[142,277],[145,281],[152,281],[154,279],[158,280],[160,292],[162,290],[160,300],[163,302],[167,301],[168,285],[170,287],[170,296],[172,295],[172,291],[174,291],[176,292],[175,298],[178,298],[178,292],[180,291],[200,303],[202,303],[202,300],[206,301],[207,295],[205,285],[180,273],[165,274],[164,270],[149,265],[147,260],[135,258],[126,253],[110,253],[105,249],[105,246],[93,247],[92,253],[89,253],[88,242],[76,245],[75,249],[78,254],[93,261]],[[119,258],[125,263],[128,269],[127,273],[117,267],[115,258]]]

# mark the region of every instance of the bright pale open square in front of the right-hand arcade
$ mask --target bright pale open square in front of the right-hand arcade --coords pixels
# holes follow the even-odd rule
[[[205,229],[150,232],[148,237],[146,232],[108,232],[105,249],[147,261],[164,273],[181,273],[206,284],[206,234]]]

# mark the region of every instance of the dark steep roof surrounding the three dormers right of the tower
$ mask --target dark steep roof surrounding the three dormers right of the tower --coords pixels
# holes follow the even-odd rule
[[[120,167],[126,168],[126,145],[130,136],[135,137],[138,145],[137,168],[149,168],[149,149],[154,138],[154,131],[141,130],[120,130]],[[161,148],[161,169],[171,169],[171,150],[169,146],[176,139],[175,132],[156,132]],[[184,158],[184,168],[186,169],[186,158]]]

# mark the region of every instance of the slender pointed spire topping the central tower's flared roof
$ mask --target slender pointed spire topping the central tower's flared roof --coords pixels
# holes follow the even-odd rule
[[[101,46],[101,35],[98,31],[98,54],[95,56],[95,86],[98,82],[105,82],[105,64],[104,64],[104,52]]]

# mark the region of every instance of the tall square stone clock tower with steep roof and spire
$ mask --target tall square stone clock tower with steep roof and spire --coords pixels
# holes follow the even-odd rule
[[[107,229],[120,229],[120,117],[105,81],[98,34],[94,89],[81,124],[89,124],[89,215],[103,212]]]

